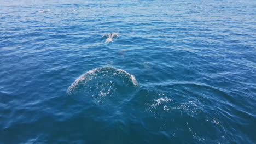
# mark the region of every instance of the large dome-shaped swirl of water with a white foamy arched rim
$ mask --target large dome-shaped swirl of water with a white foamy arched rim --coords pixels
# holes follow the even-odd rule
[[[125,70],[104,67],[92,69],[78,77],[67,89],[67,94],[79,101],[111,107],[129,99],[137,87],[135,76]]]

